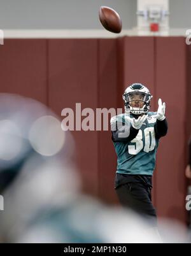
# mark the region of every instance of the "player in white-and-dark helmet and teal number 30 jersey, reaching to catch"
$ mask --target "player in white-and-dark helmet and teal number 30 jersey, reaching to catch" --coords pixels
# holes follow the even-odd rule
[[[159,99],[158,111],[149,111],[152,95],[141,83],[127,87],[123,99],[125,113],[111,118],[112,140],[117,153],[115,190],[123,206],[157,225],[152,204],[152,175],[159,140],[167,134],[166,104]]]

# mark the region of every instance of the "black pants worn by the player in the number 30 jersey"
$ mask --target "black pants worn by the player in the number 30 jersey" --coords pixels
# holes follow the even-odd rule
[[[152,204],[152,184],[146,175],[117,174],[115,190],[122,206],[131,208],[157,225],[157,214]]]

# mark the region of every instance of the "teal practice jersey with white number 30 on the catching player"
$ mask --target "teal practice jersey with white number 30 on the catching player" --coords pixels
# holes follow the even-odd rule
[[[148,118],[141,126],[138,134],[131,141],[113,141],[117,153],[117,173],[152,175],[155,169],[156,153],[159,139],[155,136],[157,112],[148,112]],[[134,117],[132,114],[130,117]],[[113,120],[113,121],[112,121]],[[111,118],[112,122],[129,125],[125,114]]]

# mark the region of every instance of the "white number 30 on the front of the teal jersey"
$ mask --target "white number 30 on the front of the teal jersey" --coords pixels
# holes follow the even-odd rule
[[[150,152],[155,148],[156,141],[155,141],[154,127],[145,128],[144,135],[145,135],[145,139],[143,141],[143,131],[139,130],[136,138],[132,139],[131,142],[135,143],[135,145],[128,146],[128,150],[131,155],[136,155],[142,149],[144,152]]]

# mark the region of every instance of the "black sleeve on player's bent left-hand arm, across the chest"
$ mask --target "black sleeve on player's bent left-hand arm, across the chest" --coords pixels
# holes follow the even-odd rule
[[[125,129],[125,125],[123,125],[124,129]],[[134,129],[131,125],[130,127],[130,131],[129,131],[129,136],[124,136],[124,137],[120,137],[119,133],[121,134],[122,131],[119,131],[118,129],[116,131],[111,131],[112,133],[112,140],[113,142],[127,142],[127,141],[131,141],[132,139],[136,138],[136,136],[138,135],[139,130],[138,129]]]

